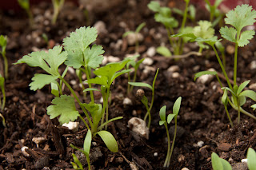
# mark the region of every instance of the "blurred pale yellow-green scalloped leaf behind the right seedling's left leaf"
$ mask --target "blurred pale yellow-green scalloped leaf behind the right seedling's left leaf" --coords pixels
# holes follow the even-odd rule
[[[214,29],[212,28],[211,22],[201,20],[198,22],[198,25],[193,30],[196,37],[205,39],[214,37]]]

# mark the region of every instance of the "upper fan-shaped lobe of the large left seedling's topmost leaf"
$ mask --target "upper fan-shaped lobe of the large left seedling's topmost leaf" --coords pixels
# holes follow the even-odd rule
[[[64,49],[84,51],[88,45],[95,42],[96,38],[97,30],[95,28],[83,26],[70,33],[70,37],[64,38]]]

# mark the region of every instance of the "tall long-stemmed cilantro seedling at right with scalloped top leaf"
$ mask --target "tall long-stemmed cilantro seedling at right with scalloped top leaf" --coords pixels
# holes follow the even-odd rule
[[[222,34],[222,38],[226,38],[226,40],[230,42],[235,43],[235,52],[234,52],[234,85],[232,86],[230,83],[230,79],[227,76],[226,70],[224,65],[222,64],[221,58],[218,56],[217,49],[215,48],[215,44],[221,40],[218,40],[216,36],[212,38],[202,38],[198,37],[194,33],[190,34],[176,34],[173,37],[189,37],[191,38],[190,41],[192,42],[204,42],[208,45],[210,45],[214,49],[214,53],[218,59],[218,64],[220,65],[222,69],[222,73],[224,74],[224,77],[226,78],[226,82],[228,84],[228,87],[222,87],[222,84],[220,83],[222,89],[224,90],[223,96],[222,96],[222,103],[225,106],[227,104],[230,104],[232,108],[238,111],[238,124],[240,123],[240,113],[244,113],[249,117],[252,117],[256,120],[256,117],[254,115],[246,112],[246,110],[242,109],[242,105],[246,103],[246,97],[249,97],[253,101],[256,101],[256,93],[253,90],[244,90],[246,85],[249,84],[250,81],[245,81],[243,82],[240,86],[237,85],[237,62],[238,62],[238,46],[243,47],[247,44],[249,44],[249,40],[254,38],[254,30],[246,30],[242,31],[242,28],[245,26],[250,26],[253,25],[255,22],[256,18],[256,11],[252,10],[252,6],[248,6],[247,4],[244,4],[242,6],[237,6],[234,10],[230,10],[228,14],[226,14],[225,22],[226,24],[230,24],[231,26],[234,27],[222,27],[220,29],[220,33]],[[203,75],[204,73],[209,74],[209,72],[202,72],[199,73],[198,75]],[[216,75],[216,73],[212,73]],[[195,79],[198,76],[195,76]],[[219,81],[220,82],[220,81]],[[229,98],[225,92],[225,90],[230,91],[232,97]],[[227,115],[229,113],[227,112]],[[229,117],[230,119],[230,117]],[[230,124],[233,126],[233,123],[230,120]]]

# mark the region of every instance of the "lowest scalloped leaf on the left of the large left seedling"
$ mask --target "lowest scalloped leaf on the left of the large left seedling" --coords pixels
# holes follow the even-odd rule
[[[50,119],[59,117],[58,121],[61,124],[75,121],[79,115],[74,105],[74,98],[66,95],[61,97],[55,97],[52,104],[47,108],[47,114],[50,115]]]

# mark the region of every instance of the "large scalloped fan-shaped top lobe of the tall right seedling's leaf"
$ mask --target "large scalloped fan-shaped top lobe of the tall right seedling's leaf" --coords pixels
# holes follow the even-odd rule
[[[255,18],[256,11],[253,10],[252,6],[242,4],[242,6],[237,6],[226,14],[225,22],[240,32],[243,27],[254,25]]]

